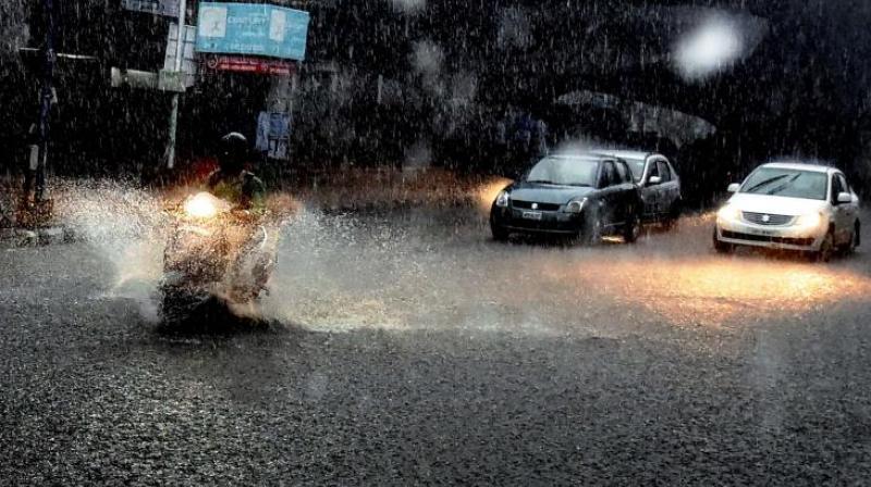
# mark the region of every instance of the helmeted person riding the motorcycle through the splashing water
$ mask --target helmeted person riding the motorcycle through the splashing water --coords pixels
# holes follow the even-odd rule
[[[266,290],[275,265],[278,230],[267,222],[266,185],[245,167],[248,153],[245,136],[237,132],[223,136],[218,154],[219,167],[208,176],[207,186],[212,195],[230,202],[245,215],[243,226],[247,227],[247,232],[242,237],[245,241],[240,246],[233,284],[235,292],[253,292],[257,297],[261,290]],[[253,259],[252,286],[245,286],[243,278],[245,259]]]

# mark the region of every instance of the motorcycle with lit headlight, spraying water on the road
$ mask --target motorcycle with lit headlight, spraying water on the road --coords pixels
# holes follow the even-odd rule
[[[274,258],[258,218],[209,192],[187,198],[170,213],[175,223],[160,285],[164,323],[183,322],[216,300],[245,307],[266,290]]]

